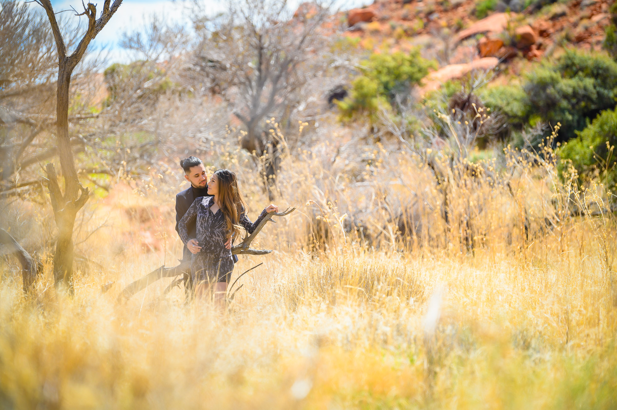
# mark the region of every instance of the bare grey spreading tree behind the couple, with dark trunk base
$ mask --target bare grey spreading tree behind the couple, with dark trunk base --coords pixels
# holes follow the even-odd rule
[[[261,159],[270,198],[283,144],[265,120],[289,124],[298,91],[328,68],[328,36],[321,29],[328,17],[328,4],[322,2],[311,13],[292,17],[286,0],[244,0],[230,3],[218,19],[195,18],[201,36],[193,58],[195,80],[209,83],[242,123],[241,148]]]

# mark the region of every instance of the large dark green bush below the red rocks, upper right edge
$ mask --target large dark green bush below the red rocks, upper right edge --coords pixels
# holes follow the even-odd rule
[[[560,122],[560,140],[568,140],[600,111],[615,107],[617,62],[605,54],[567,50],[526,74],[520,86],[492,87],[483,100],[505,115],[510,132]]]

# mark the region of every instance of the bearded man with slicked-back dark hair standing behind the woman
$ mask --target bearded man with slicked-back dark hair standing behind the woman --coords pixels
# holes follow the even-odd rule
[[[180,160],[180,166],[184,170],[184,179],[190,182],[191,186],[176,195],[176,232],[178,232],[178,222],[189,210],[193,201],[200,196],[212,196],[208,195],[208,177],[201,159],[189,156],[189,158]],[[196,236],[195,223],[189,228],[189,236]],[[231,249],[231,239],[225,243],[225,247]],[[182,249],[182,262],[191,260],[191,254],[196,254],[200,249],[201,246],[197,243],[197,239],[191,239]],[[238,262],[238,256],[233,255],[233,261]]]

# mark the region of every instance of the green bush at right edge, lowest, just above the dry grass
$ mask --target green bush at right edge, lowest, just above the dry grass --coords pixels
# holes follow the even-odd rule
[[[617,169],[613,148],[617,143],[617,109],[602,111],[578,137],[559,148],[557,153],[576,169],[581,179],[600,177],[613,193],[617,184]],[[566,163],[561,164],[565,168]]]

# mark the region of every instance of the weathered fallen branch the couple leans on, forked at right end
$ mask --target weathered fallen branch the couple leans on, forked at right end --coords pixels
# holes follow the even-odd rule
[[[259,231],[262,230],[262,228],[266,225],[268,221],[275,222],[272,220],[273,216],[285,216],[285,215],[291,214],[291,212],[293,211],[296,211],[296,208],[288,208],[283,212],[269,212],[262,219],[259,225],[255,227],[255,230],[253,231],[253,233],[251,233],[251,235],[247,235],[246,238],[242,239],[242,242],[240,244],[231,248],[231,254],[232,255],[267,255],[270,252],[272,252],[271,250],[268,250],[268,249],[253,249],[251,247],[251,242],[253,241],[253,239],[255,239]],[[178,275],[183,275],[184,273],[188,273],[190,270],[191,270],[191,262],[183,262],[183,263],[180,263],[180,265],[176,267],[172,267],[172,268],[162,266],[156,270],[151,271],[143,278],[137,279],[135,282],[126,286],[122,290],[122,292],[120,292],[120,295],[118,296],[118,301],[121,302],[123,300],[130,299],[131,296],[141,291],[142,289],[146,289],[147,286],[151,285],[152,283],[158,281],[161,278],[175,278]],[[180,283],[181,280],[182,279],[177,279],[176,281],[173,281],[172,284],[168,286],[167,289],[165,289],[165,293],[171,291],[174,286]]]

